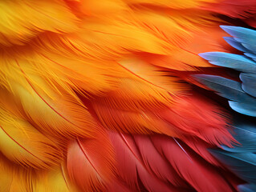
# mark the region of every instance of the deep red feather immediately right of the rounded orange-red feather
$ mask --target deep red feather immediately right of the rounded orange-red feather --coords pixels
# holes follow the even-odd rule
[[[110,133],[112,144],[116,151],[117,172],[124,182],[132,189],[143,187],[152,191],[178,191],[171,185],[156,178],[154,174],[148,172],[140,158],[140,153],[132,137],[124,134]]]

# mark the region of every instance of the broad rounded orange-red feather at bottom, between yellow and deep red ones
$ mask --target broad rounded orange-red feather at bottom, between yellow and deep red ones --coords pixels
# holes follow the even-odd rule
[[[108,134],[77,138],[67,150],[67,170],[71,182],[83,191],[106,191],[114,178],[115,154]]]

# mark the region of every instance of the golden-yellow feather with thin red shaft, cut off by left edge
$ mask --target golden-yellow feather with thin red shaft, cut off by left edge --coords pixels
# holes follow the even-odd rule
[[[23,166],[47,169],[62,158],[59,147],[25,119],[0,108],[2,154]]]

